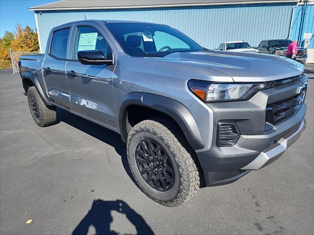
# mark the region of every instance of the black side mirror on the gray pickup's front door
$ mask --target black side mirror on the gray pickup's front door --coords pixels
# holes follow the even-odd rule
[[[106,60],[101,50],[78,51],[78,61],[83,65],[112,65],[113,60]]]

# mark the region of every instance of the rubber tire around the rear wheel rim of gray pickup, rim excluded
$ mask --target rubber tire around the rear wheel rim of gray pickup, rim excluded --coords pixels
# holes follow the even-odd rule
[[[35,120],[36,124],[41,127],[51,126],[55,124],[57,120],[56,108],[53,106],[49,106],[49,107],[46,106],[46,104],[44,103],[43,99],[40,97],[35,87],[28,88],[27,100],[29,99],[28,95],[31,95],[31,94],[36,99],[38,108],[39,108],[40,118],[38,122]],[[29,105],[29,101],[28,101],[28,105]],[[32,113],[31,107],[29,107],[29,110]]]

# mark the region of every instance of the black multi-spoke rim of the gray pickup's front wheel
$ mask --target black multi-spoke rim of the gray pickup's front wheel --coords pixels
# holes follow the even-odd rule
[[[144,139],[135,150],[135,161],[145,182],[157,191],[169,190],[175,180],[174,167],[157,141]]]

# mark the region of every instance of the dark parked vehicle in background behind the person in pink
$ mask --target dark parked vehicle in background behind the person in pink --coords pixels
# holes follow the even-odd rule
[[[288,45],[292,43],[291,40],[287,39],[276,39],[276,40],[263,40],[260,42],[257,49],[264,54],[273,55],[287,55]],[[308,59],[308,49],[304,47],[298,47],[298,53],[296,54],[296,61],[305,64]]]

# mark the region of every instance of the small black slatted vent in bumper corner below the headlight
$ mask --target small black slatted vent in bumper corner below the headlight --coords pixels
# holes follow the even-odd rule
[[[240,131],[234,123],[218,123],[218,146],[233,146],[240,138]]]

